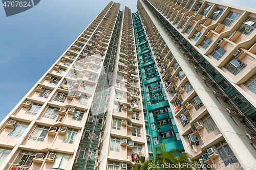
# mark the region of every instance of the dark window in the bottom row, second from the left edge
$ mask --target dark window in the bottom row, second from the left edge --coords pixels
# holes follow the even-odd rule
[[[33,163],[33,158],[35,157],[35,155],[36,152],[21,151],[13,164],[24,165],[29,167]]]

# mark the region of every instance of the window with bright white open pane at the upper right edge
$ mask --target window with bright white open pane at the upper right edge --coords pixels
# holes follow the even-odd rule
[[[256,27],[256,18],[248,17],[240,26],[238,31],[245,35],[250,35]]]

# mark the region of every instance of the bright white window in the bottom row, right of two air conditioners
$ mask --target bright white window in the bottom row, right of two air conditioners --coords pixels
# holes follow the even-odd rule
[[[70,155],[68,154],[56,154],[55,160],[52,164],[51,170],[62,170],[66,169],[69,162]]]

